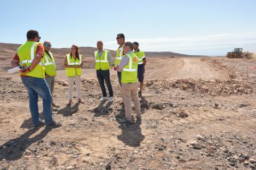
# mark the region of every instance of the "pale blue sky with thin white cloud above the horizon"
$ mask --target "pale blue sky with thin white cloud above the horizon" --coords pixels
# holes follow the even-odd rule
[[[29,29],[53,47],[116,49],[117,33],[145,51],[225,55],[256,52],[256,1],[1,1],[0,42],[22,44]]]

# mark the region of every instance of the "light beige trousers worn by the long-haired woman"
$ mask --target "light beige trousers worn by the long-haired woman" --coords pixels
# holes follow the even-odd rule
[[[74,77],[68,77],[68,99],[72,100],[73,99],[73,84],[74,84],[74,79],[76,82],[76,92],[77,92],[77,98],[81,99],[81,88],[80,88],[80,83],[81,83],[81,77],[79,75],[75,75]]]

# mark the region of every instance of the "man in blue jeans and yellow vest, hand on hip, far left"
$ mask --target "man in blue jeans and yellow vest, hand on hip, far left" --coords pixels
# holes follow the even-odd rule
[[[20,70],[20,76],[28,91],[29,108],[34,128],[38,129],[43,125],[46,125],[46,128],[58,128],[61,123],[54,121],[52,118],[52,95],[44,78],[44,46],[39,43],[40,39],[41,37],[39,37],[36,30],[29,30],[27,32],[27,42],[17,49],[17,54],[15,54],[11,65],[13,67],[28,66],[26,69]],[[38,96],[43,99],[45,122],[39,117]]]

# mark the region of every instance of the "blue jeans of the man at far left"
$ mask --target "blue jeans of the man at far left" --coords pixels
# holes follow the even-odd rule
[[[41,123],[38,112],[38,95],[43,99],[43,114],[45,124],[52,123],[52,95],[49,86],[44,78],[21,77],[22,83],[26,86],[29,96],[29,108],[34,126]]]

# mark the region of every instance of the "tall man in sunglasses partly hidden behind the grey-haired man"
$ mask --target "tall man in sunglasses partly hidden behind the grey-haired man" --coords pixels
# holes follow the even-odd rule
[[[119,47],[116,50],[115,67],[121,62],[122,57],[124,56],[123,54],[124,43],[125,43],[124,34],[118,33],[118,35],[116,36],[116,41]],[[121,85],[121,75],[122,75],[121,72],[117,72],[117,77],[120,85]]]

